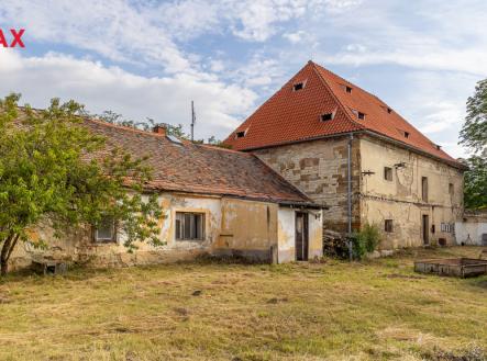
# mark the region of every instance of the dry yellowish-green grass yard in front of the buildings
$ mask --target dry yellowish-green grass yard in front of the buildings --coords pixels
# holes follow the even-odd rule
[[[185,263],[0,280],[1,360],[454,360],[487,350],[487,278],[363,263]],[[450,352],[450,353],[449,353]]]

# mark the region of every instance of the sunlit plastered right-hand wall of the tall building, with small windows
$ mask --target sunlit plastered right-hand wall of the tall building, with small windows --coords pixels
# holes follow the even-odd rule
[[[444,238],[453,244],[453,227],[452,232],[442,232],[441,224],[453,225],[462,216],[463,173],[444,162],[376,138],[361,138],[359,149],[363,172],[361,218],[363,223],[377,224],[383,230],[380,247],[389,249],[423,245],[423,214],[429,215],[430,242],[436,244]],[[392,168],[391,181],[384,177],[385,167]],[[422,177],[428,178],[428,201],[422,200]],[[453,194],[449,190],[450,183],[454,188]],[[385,219],[392,219],[392,233],[384,232]],[[434,234],[431,225],[434,225]]]

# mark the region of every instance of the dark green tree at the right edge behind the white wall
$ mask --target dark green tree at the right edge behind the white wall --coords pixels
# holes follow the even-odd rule
[[[467,115],[460,133],[461,144],[473,155],[466,159],[465,207],[487,207],[487,79],[475,87],[467,100]]]

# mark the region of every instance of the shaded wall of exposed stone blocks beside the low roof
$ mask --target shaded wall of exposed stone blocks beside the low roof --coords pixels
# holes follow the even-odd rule
[[[347,228],[347,143],[348,137],[311,140],[255,150],[263,161],[305,192],[323,211],[323,226],[337,232]],[[359,144],[352,146],[354,199],[359,190]],[[359,203],[354,202],[353,226],[359,226]]]

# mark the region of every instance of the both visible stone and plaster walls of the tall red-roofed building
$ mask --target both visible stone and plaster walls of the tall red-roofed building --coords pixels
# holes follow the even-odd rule
[[[328,207],[323,211],[324,229],[345,233],[347,142],[343,136],[254,153],[314,202]],[[385,167],[392,169],[392,181],[384,179]],[[463,210],[462,171],[375,137],[355,136],[352,174],[353,229],[359,229],[363,223],[377,224],[384,249],[420,246],[421,219],[428,215],[431,244],[454,242],[453,225]],[[429,182],[428,201],[422,200],[422,177]],[[392,219],[391,233],[385,232],[385,219]]]

